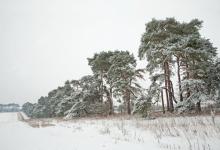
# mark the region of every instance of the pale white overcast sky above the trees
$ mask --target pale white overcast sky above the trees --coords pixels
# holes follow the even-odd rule
[[[137,55],[145,23],[166,17],[203,20],[220,47],[219,0],[0,0],[0,103],[36,102],[90,74],[95,52]]]

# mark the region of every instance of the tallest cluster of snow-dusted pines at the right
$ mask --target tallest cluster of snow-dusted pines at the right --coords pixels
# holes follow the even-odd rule
[[[201,102],[219,100],[219,59],[217,49],[202,37],[202,21],[194,19],[180,23],[174,18],[155,20],[146,24],[141,38],[139,58],[147,59],[147,71],[154,92],[161,95],[163,111],[174,111],[174,103],[181,110],[201,111]],[[177,79],[174,83],[172,79]],[[178,92],[174,92],[174,85]],[[155,91],[155,89],[157,89]]]

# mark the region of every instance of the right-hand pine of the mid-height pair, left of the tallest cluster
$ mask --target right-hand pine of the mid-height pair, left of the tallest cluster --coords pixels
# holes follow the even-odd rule
[[[114,51],[107,77],[115,97],[122,97],[126,111],[131,114],[131,97],[140,91],[137,78],[142,78],[142,70],[136,70],[135,57],[128,51]]]

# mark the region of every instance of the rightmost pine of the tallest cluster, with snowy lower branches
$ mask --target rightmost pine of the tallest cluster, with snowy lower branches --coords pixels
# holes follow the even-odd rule
[[[201,101],[208,100],[210,93],[206,79],[210,76],[208,71],[216,57],[216,48],[208,39],[202,38],[198,34],[189,36],[183,46],[183,51],[185,53],[183,61],[187,64],[183,82],[188,86],[184,85],[182,91],[187,93],[184,97],[185,100],[189,101],[188,99],[190,99],[190,102],[193,102],[197,111],[200,112]]]

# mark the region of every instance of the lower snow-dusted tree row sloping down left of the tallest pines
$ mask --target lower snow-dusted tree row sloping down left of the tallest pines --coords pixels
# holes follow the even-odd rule
[[[66,81],[38,103],[25,103],[23,111],[30,117],[111,115],[114,97],[123,101],[120,111],[131,114],[131,100],[141,92],[137,78],[143,78],[143,70],[136,70],[135,57],[128,51],[103,51],[88,58],[88,64],[93,75]]]

